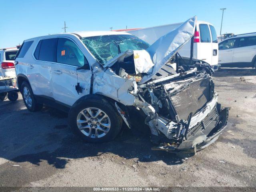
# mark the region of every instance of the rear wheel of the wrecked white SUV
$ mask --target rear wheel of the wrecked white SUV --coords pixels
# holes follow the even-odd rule
[[[28,110],[30,110],[31,112],[36,112],[42,109],[43,104],[39,104],[36,102],[35,96],[28,82],[22,82],[20,92],[22,94],[24,104],[26,105]]]

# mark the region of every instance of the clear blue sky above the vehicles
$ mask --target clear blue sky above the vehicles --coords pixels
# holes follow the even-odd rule
[[[3,0],[0,48],[23,40],[80,30],[150,27],[182,22],[196,15],[212,23],[220,33],[256,32],[255,0]]]

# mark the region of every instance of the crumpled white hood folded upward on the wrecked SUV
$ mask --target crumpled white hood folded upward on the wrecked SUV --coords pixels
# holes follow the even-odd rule
[[[150,80],[154,74],[158,72],[164,64],[168,63],[170,58],[194,35],[196,27],[196,16],[188,19],[178,28],[170,31],[168,34],[160,37],[146,51],[154,64],[151,70],[148,70],[148,75],[144,76],[139,84]],[[133,50],[122,52],[109,60],[103,67],[110,67],[116,61],[123,60],[125,57],[133,54]]]

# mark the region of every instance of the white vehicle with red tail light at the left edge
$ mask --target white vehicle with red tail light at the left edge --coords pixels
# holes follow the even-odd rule
[[[0,49],[0,76],[16,77],[14,58],[18,52],[17,48]]]

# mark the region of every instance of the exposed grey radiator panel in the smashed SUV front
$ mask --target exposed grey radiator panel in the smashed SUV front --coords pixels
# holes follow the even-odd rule
[[[210,101],[210,77],[196,80],[170,97],[179,119],[187,120]]]

